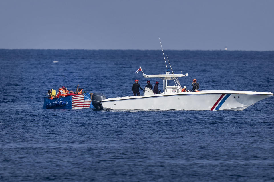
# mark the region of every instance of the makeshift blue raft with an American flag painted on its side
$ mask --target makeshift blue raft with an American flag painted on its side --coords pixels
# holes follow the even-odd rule
[[[58,99],[44,98],[43,109],[88,109],[93,108],[91,93],[77,94]]]

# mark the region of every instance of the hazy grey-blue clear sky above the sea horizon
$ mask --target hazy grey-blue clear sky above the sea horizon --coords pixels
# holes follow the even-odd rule
[[[274,50],[273,0],[0,0],[0,49]]]

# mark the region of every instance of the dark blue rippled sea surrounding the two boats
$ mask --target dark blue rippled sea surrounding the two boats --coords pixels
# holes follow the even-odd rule
[[[188,89],[274,92],[274,51],[164,53]],[[0,62],[0,181],[274,181],[274,97],[243,111],[43,109],[62,86],[130,96],[140,66],[165,73],[162,51],[0,49]]]

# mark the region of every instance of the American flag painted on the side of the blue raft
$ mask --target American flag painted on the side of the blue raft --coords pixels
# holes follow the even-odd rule
[[[72,96],[72,109],[89,108],[92,100],[89,94],[79,94]]]

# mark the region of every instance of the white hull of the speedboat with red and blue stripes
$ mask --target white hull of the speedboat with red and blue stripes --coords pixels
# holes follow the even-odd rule
[[[200,91],[147,96],[110,98],[101,101],[104,109],[114,110],[235,110],[273,96],[267,92],[249,91]]]

